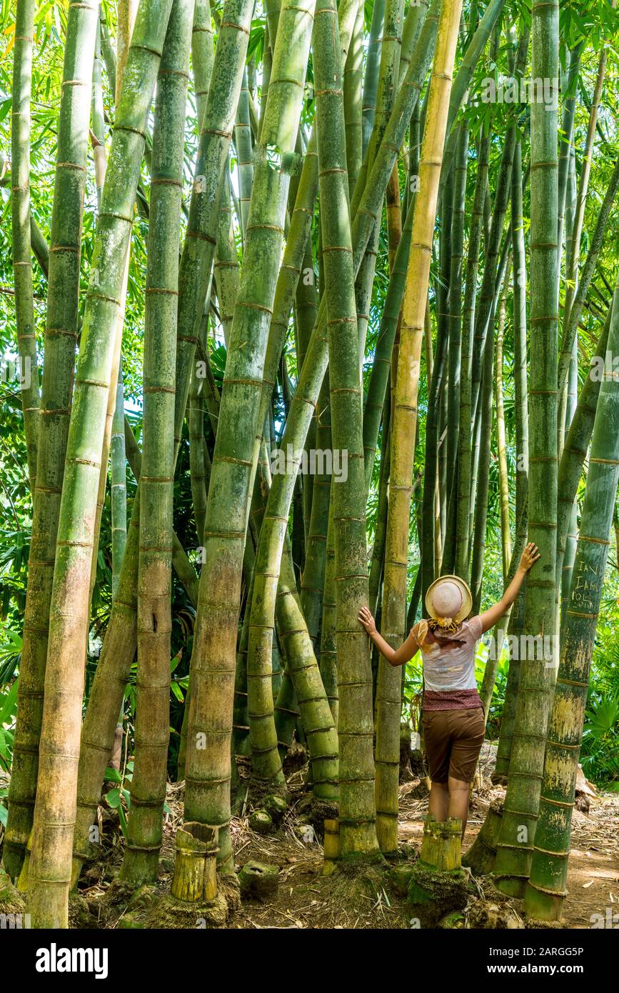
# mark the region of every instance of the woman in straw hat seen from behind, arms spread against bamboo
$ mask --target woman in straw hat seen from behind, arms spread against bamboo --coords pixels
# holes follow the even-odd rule
[[[475,645],[512,606],[523,580],[540,558],[533,542],[525,548],[518,571],[507,590],[489,610],[474,618],[466,583],[457,576],[441,576],[426,594],[428,620],[411,629],[398,649],[376,630],[366,607],[359,622],[392,665],[404,665],[420,650],[424,663],[422,724],[430,766],[430,812],[436,820],[457,817],[462,837],[468,815],[470,783],[484,740],[484,713],[475,682]]]

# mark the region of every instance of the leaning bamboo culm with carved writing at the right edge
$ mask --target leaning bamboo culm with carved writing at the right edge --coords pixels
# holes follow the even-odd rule
[[[619,280],[614,292],[608,350],[611,355],[619,352]],[[619,378],[616,372],[605,369],[563,623],[540,819],[525,894],[525,910],[543,921],[560,919],[567,895],[565,881],[578,752],[618,479]]]

